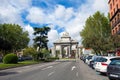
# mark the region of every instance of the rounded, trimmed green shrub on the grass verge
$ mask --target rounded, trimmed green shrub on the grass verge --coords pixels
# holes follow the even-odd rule
[[[3,63],[5,64],[16,64],[18,62],[18,57],[17,55],[10,53],[5,55],[5,57],[3,58]]]

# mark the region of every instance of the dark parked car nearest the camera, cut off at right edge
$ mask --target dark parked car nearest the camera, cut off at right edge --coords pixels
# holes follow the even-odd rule
[[[120,80],[120,58],[113,59],[107,67],[110,80]]]

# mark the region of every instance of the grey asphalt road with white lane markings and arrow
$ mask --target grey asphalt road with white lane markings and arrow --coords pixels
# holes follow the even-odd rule
[[[80,60],[57,61],[0,71],[0,80],[108,80]]]

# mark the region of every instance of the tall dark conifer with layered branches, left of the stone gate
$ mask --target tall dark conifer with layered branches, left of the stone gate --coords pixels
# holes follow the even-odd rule
[[[50,28],[49,27],[42,27],[42,28],[34,28],[34,35],[36,36],[34,38],[34,44],[36,47],[39,47],[39,50],[38,50],[38,59],[39,57],[43,54],[42,53],[42,49],[43,48],[46,48],[48,49],[48,46],[47,46],[47,43],[48,43],[48,32],[50,31]]]

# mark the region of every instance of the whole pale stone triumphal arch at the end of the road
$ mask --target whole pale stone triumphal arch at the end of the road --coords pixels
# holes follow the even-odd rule
[[[71,39],[69,33],[64,32],[62,37],[54,42],[54,54],[59,58],[78,57],[78,42]]]

